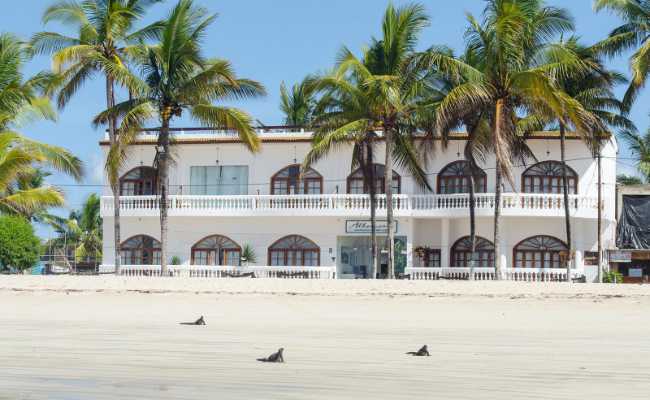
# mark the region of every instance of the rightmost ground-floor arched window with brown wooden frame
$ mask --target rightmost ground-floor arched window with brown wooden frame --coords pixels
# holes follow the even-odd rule
[[[552,236],[539,235],[525,239],[514,248],[515,268],[562,268],[567,245]]]

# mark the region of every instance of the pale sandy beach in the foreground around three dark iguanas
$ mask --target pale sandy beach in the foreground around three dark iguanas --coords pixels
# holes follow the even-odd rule
[[[650,286],[21,276],[0,302],[0,399],[650,393]]]

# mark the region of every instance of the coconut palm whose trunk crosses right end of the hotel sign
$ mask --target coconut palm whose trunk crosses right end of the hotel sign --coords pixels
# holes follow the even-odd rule
[[[337,139],[350,134],[364,136],[376,130],[383,132],[389,278],[395,273],[394,161],[408,168],[417,183],[428,187],[412,146],[416,129],[426,125],[427,117],[433,115],[433,105],[427,101],[430,87],[426,83],[430,74],[417,62],[415,52],[417,37],[428,21],[421,5],[398,9],[389,5],[383,18],[382,37],[372,40],[361,59],[344,47],[335,72],[317,85],[348,103],[357,103],[352,109],[333,111],[331,120],[338,128],[331,131],[328,142],[337,143]],[[322,118],[315,121],[320,120]]]

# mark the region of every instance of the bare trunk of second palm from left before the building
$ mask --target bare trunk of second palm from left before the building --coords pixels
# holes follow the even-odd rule
[[[167,271],[167,201],[169,176],[169,119],[171,110],[163,110],[162,126],[158,136],[158,178],[160,187],[160,272],[163,276],[168,275]]]

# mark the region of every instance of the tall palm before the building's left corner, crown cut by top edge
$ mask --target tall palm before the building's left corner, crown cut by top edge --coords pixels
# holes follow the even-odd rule
[[[57,103],[63,108],[77,91],[99,73],[106,81],[106,107],[115,105],[115,84],[130,87],[130,75],[125,63],[132,45],[158,36],[160,22],[134,30],[134,25],[154,3],[162,0],[61,0],[48,7],[43,23],[59,22],[70,26],[78,36],[56,32],[40,32],[32,37],[33,51],[53,55],[53,69],[59,74],[56,87]],[[108,122],[112,147],[117,146],[115,119]],[[120,187],[119,170],[107,165],[107,175],[113,191],[113,244],[115,268],[119,273],[120,256]]]

